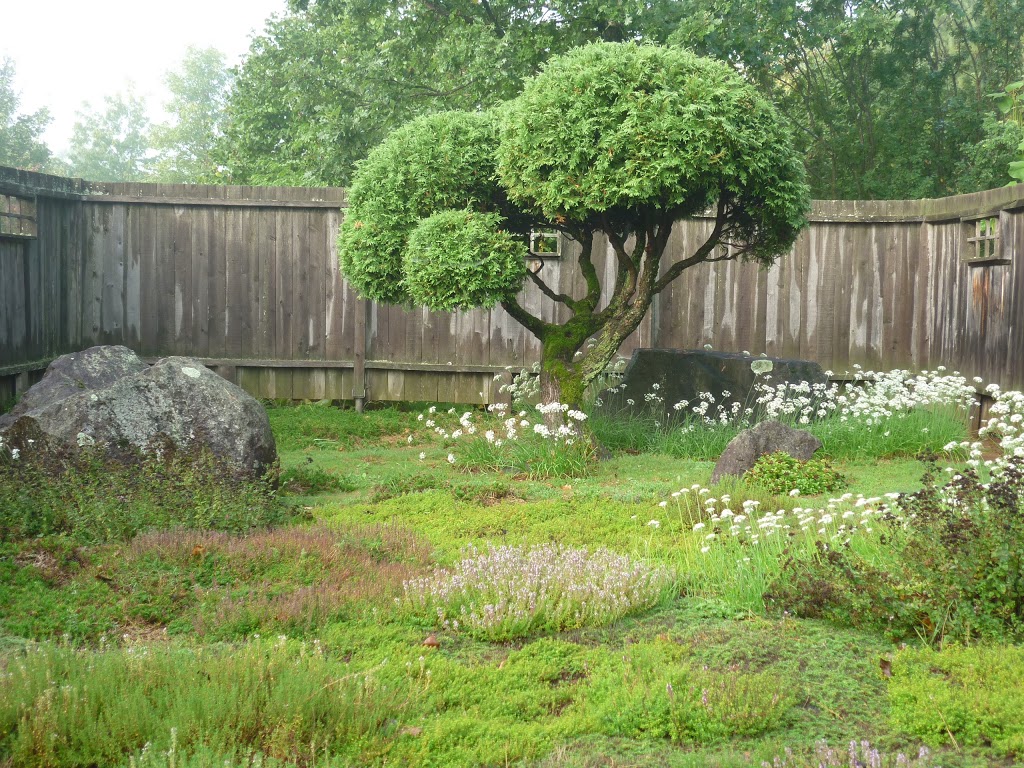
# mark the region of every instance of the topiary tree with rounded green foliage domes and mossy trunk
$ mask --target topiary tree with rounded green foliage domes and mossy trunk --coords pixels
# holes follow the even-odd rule
[[[543,344],[543,398],[578,404],[685,269],[771,264],[808,207],[786,125],[729,67],[680,48],[600,43],[551,59],[489,112],[419,118],[390,134],[356,170],[339,250],[342,271],[375,300],[500,303]],[[674,223],[709,210],[703,244],[663,263]],[[585,295],[526,270],[534,228],[580,244]],[[593,260],[599,234],[614,252],[611,286]],[[526,280],[568,319],[526,311],[516,299]]]

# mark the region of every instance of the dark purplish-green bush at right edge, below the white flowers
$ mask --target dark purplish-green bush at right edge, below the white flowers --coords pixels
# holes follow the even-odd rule
[[[973,470],[900,496],[884,543],[886,567],[822,548],[783,566],[775,610],[929,640],[1020,637],[1024,627],[1024,472],[1019,461],[981,483]]]

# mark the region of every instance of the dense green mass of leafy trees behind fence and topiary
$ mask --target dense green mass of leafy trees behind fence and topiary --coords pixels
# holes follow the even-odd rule
[[[240,71],[221,162],[347,184],[411,118],[511,98],[596,40],[729,61],[796,127],[815,197],[935,197],[980,180],[962,158],[1024,72],[1024,0],[293,0]]]

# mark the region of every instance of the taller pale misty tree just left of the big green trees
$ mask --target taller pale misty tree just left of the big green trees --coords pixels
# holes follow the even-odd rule
[[[171,92],[165,106],[174,120],[153,127],[154,178],[168,183],[213,181],[217,171],[213,153],[223,133],[231,83],[224,54],[216,48],[189,46],[181,68],[168,73],[165,82]]]

